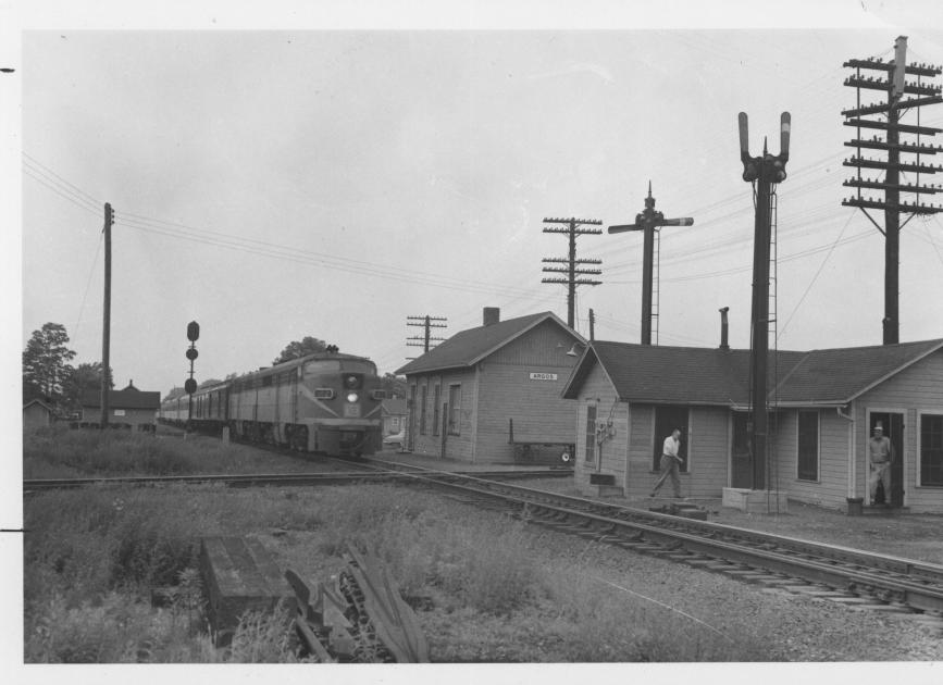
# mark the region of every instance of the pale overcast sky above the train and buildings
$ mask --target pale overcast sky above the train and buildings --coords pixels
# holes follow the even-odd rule
[[[909,23],[916,11],[895,25],[832,4],[846,28],[27,30],[21,349],[55,322],[74,363],[100,360],[104,202],[117,387],[183,385],[191,320],[198,381],[268,365],[307,335],[395,371],[421,352],[408,316],[446,317],[443,337],[483,307],[566,320],[541,260],[567,239],[544,217],[603,222],[578,240],[578,257],[603,260],[603,285],[578,290],[578,329],[588,336],[592,308],[598,339],[637,342],[642,236],[606,227],[644,209],[649,180],[657,210],[694,217],[662,231],[658,341],[716,346],[730,307],[731,344],[748,347],[740,111],[753,154],[764,136],[779,151],[792,114],[779,347],[879,345],[883,236],[841,204],[841,111],[855,103],[842,63],[891,59],[903,34],[908,61],[940,64],[943,33]],[[920,122],[943,125],[943,105]],[[943,222],[915,217],[903,341],[943,337],[941,292]]]

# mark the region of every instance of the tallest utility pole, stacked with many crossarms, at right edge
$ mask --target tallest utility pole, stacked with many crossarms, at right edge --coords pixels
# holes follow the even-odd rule
[[[941,165],[922,164],[921,154],[936,154],[940,146],[922,145],[921,135],[933,136],[941,133],[940,128],[920,125],[920,110],[925,104],[935,104],[943,101],[940,96],[940,86],[925,85],[925,76],[939,76],[941,67],[930,64],[907,64],[907,37],[898,36],[894,41],[894,60],[883,62],[881,60],[848,60],[843,66],[854,67],[855,75],[845,79],[845,85],[857,91],[857,104],[855,108],[844,110],[845,126],[857,128],[858,138],[845,142],[845,146],[857,149],[857,154],[846,159],[844,166],[857,167],[858,174],[854,178],[844,182],[843,185],[857,188],[857,195],[852,198],[843,198],[845,207],[857,207],[871,221],[872,224],[884,235],[884,319],[882,321],[884,345],[899,342],[901,321],[898,309],[899,295],[899,263],[901,263],[901,229],[915,214],[934,214],[943,211],[943,207],[925,204],[920,202],[921,194],[935,194],[943,190],[940,186],[921,186],[920,174],[933,174],[943,169]],[[886,79],[873,76],[861,76],[861,70],[884,72]],[[916,82],[907,82],[906,75],[916,75]],[[888,101],[883,103],[861,107],[861,89],[880,90],[888,94]],[[915,98],[902,99],[904,95],[914,95]],[[917,124],[901,124],[901,114],[908,110],[917,111]],[[881,115],[885,121],[861,119],[868,115]],[[873,136],[870,139],[861,139],[861,128],[872,128],[885,132],[884,139]],[[901,134],[916,134],[916,142],[902,142]],[[888,161],[874,160],[861,157],[861,149],[882,150],[888,153]],[[915,161],[901,162],[901,152],[916,154]],[[861,169],[878,169],[884,171],[884,179],[863,178]],[[916,183],[901,183],[901,172],[916,173]],[[883,190],[883,201],[861,196],[865,188]],[[911,192],[917,197],[913,202],[902,202],[901,192]],[[883,210],[883,228],[876,222],[868,209]],[[904,225],[901,224],[901,214],[909,214]]]

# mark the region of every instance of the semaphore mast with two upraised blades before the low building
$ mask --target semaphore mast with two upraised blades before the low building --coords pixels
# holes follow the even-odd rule
[[[755,186],[756,223],[753,238],[753,308],[750,314],[750,407],[749,436],[753,460],[753,489],[767,489],[767,357],[769,353],[769,253],[771,235],[772,186],[785,180],[785,164],[789,161],[790,128],[792,117],[783,112],[780,117],[780,153],[773,157],[767,151],[766,138],[762,154],[749,155],[747,116],[740,113],[740,160],[743,162],[743,179]]]

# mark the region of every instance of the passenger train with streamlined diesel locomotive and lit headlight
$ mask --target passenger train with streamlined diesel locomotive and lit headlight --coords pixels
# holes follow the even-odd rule
[[[371,360],[325,351],[165,401],[160,418],[177,426],[189,419],[201,432],[228,427],[249,441],[360,457],[381,449],[385,396]]]

